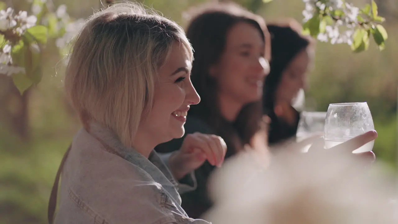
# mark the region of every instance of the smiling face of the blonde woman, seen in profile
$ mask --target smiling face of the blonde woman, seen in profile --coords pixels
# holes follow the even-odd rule
[[[189,106],[200,101],[191,83],[191,67],[185,48],[178,42],[174,43],[172,52],[159,70],[152,108],[143,115],[138,132],[148,132],[159,143],[183,136]]]

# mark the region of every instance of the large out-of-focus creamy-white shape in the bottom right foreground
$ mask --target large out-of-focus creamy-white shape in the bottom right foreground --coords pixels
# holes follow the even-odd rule
[[[336,151],[278,153],[263,171],[252,155],[236,157],[211,178],[215,206],[203,218],[228,224],[398,223],[398,207],[389,203],[393,179],[380,177],[379,163],[371,169],[376,172]]]

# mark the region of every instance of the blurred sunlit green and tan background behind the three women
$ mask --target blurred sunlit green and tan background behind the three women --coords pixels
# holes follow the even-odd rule
[[[70,18],[86,19],[101,8],[100,0],[47,0],[57,9],[66,6]],[[31,13],[27,0],[8,0],[16,11]],[[145,0],[147,6],[185,26],[183,12],[206,0]],[[267,22],[283,18],[302,20],[300,0],[236,0],[263,16]],[[361,6],[367,0],[354,0]],[[378,138],[373,151],[379,160],[396,170],[398,1],[378,0],[379,14],[386,18],[389,38],[386,49],[374,42],[356,54],[346,44],[316,44],[315,69],[309,77],[306,110],[326,111],[334,102],[368,102]],[[64,97],[64,63],[56,44],[49,39],[43,51],[40,84],[20,96],[12,79],[0,76],[0,223],[45,223],[47,202],[60,159],[74,133],[78,119]]]

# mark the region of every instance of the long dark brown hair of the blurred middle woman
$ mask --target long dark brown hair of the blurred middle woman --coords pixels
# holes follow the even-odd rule
[[[187,28],[187,37],[194,49],[191,79],[201,102],[191,106],[189,116],[201,118],[215,134],[221,136],[230,155],[243,149],[260,130],[261,100],[246,104],[234,122],[227,121],[220,114],[216,97],[218,83],[210,76],[209,69],[220,60],[227,33],[235,24],[244,22],[253,25],[264,42],[269,37],[267,28],[263,18],[233,3],[210,4],[194,13]]]

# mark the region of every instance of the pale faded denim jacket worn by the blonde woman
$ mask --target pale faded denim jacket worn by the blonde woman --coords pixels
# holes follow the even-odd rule
[[[79,130],[62,171],[55,224],[210,224],[187,217],[181,208],[178,189],[195,186],[173,178],[169,155],[152,151],[147,159],[98,125],[90,133]]]

